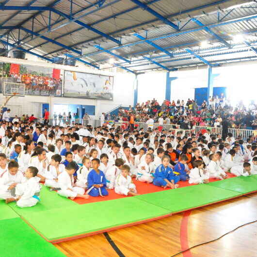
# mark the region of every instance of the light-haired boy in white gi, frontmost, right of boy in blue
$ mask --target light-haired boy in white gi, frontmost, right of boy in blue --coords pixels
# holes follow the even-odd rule
[[[121,174],[119,174],[115,180],[115,193],[125,195],[139,195],[139,193],[136,191],[136,186],[131,182],[129,172],[130,168],[128,165],[125,164],[121,166]]]

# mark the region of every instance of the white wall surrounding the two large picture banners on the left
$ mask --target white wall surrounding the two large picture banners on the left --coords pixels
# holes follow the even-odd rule
[[[49,68],[58,68],[61,70],[72,70],[78,72],[91,72],[95,74],[114,76],[113,83],[113,100],[95,100],[95,99],[81,99],[70,97],[49,97],[49,96],[24,96],[13,97],[8,102],[7,106],[13,107],[12,114],[34,114],[37,117],[42,115],[42,103],[48,103],[50,105],[50,112],[53,112],[54,104],[81,104],[81,105],[95,105],[96,106],[96,118],[100,116],[102,112],[108,112],[118,105],[129,106],[134,102],[134,79],[135,75],[131,73],[120,72],[106,72],[90,68],[84,64],[77,62],[78,67],[52,64],[42,59],[39,59],[33,55],[26,54],[26,58],[29,60],[14,59],[8,57],[0,57],[0,62],[16,63],[25,65],[37,65]],[[3,104],[5,96],[0,94],[0,103]],[[11,109],[11,108],[10,108]]]

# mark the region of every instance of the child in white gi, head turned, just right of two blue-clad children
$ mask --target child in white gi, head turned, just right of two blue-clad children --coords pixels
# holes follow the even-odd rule
[[[189,184],[206,184],[209,183],[209,173],[204,171],[204,162],[197,160],[193,162],[194,168],[189,174]]]

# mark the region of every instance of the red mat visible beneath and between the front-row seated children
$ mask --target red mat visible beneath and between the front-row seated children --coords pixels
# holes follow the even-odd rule
[[[236,176],[231,174],[231,173],[227,173],[227,177],[230,178],[230,177],[236,177]],[[160,191],[171,189],[171,188],[163,189],[162,187],[155,186],[152,183],[147,184],[145,182],[140,182],[140,181],[137,181],[135,178],[133,178],[132,180],[133,180],[133,183],[136,185],[137,192],[140,193],[140,194],[155,193],[155,192],[160,192]],[[219,179],[210,178],[209,182],[214,182],[214,181],[217,181],[217,180],[219,180]],[[179,185],[179,187],[188,187],[188,186],[193,186],[194,184],[189,184],[188,181],[179,181],[178,185]],[[89,199],[75,198],[72,201],[74,201],[78,204],[89,204],[89,203],[109,201],[109,200],[114,200],[114,199],[130,197],[130,196],[122,195],[122,194],[117,194],[117,193],[114,192],[114,189],[108,190],[108,193],[109,193],[109,195],[105,196],[105,197],[90,196]]]

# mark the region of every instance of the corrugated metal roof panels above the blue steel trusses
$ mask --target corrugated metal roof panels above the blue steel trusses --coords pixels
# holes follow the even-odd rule
[[[6,6],[26,6],[30,2],[30,0],[10,0]],[[54,2],[55,0],[37,0],[32,6],[50,6]],[[257,15],[257,3],[253,1],[225,0],[223,3],[215,5],[213,4],[214,0],[156,0],[154,3],[152,3],[152,0],[141,0],[141,2],[145,4],[151,3],[149,5],[151,9],[158,12],[161,16],[166,17],[180,29],[182,28],[181,31],[183,33],[178,34],[173,27],[158,20],[153,14],[147,12],[147,10],[138,8],[130,0],[106,0],[100,8],[96,5],[91,5],[90,1],[73,0],[72,13],[77,13],[73,15],[75,18],[80,17],[79,20],[85,24],[92,25],[93,28],[121,40],[122,47],[117,46],[116,43],[96,32],[81,27],[79,24],[74,22],[69,23],[68,19],[55,13],[51,13],[51,23],[56,23],[56,25],[51,25],[54,31],[47,32],[48,11],[39,12],[39,15],[36,15],[34,19],[34,31],[41,31],[40,33],[44,33],[48,38],[54,39],[64,46],[82,51],[82,54],[85,56],[81,56],[81,58],[91,63],[105,64],[110,58],[114,58],[116,64],[128,66],[132,70],[161,68],[156,64],[145,61],[144,56],[152,58],[152,60],[160,62],[165,66],[179,67],[186,64],[201,64],[198,59],[192,58],[189,53],[185,52],[186,48],[191,48],[193,51],[199,52],[209,62],[219,62],[220,60],[235,59],[236,57],[248,58],[254,55],[254,51],[245,50],[246,45],[241,50],[231,40],[235,34],[247,33],[245,36],[247,42],[257,42],[255,34],[255,31],[257,31],[257,18],[215,27],[216,24],[221,22]],[[70,0],[61,0],[54,8],[66,15],[70,15],[70,6]],[[131,10],[128,12],[129,9]],[[4,10],[0,12],[2,12],[0,15],[0,24],[4,23],[4,26],[22,25],[29,30],[32,30],[32,19],[29,18],[38,14],[37,11],[31,10],[20,11],[16,16],[14,14],[17,11]],[[12,16],[14,17],[11,18]],[[224,48],[223,43],[218,38],[215,38],[215,35],[210,34],[203,28],[201,30],[197,29],[199,25],[193,21],[189,21],[192,17],[196,17],[204,25],[213,25],[211,28],[212,32],[224,38],[227,43],[233,43],[233,48]],[[24,23],[23,21],[27,19],[28,21]],[[0,32],[4,34],[7,30],[1,30],[0,28]],[[174,54],[174,57],[168,57],[160,49],[155,48],[147,42],[139,44],[141,39],[134,35],[135,32],[143,37],[147,37],[147,39],[161,37],[152,42]],[[11,40],[14,43],[18,38],[17,29],[12,30],[12,37]],[[40,54],[46,54],[47,57],[57,56],[67,52],[75,56],[78,55],[65,47],[62,48],[57,44],[46,43],[47,41],[41,37],[34,37],[32,40],[27,32],[21,30],[20,38],[23,39],[24,37],[26,40],[21,40],[22,47],[26,49],[34,48],[33,50],[38,50]],[[6,36],[3,39],[6,40]],[[28,40],[29,42],[27,42]],[[211,41],[211,43],[208,47],[201,48],[200,42],[205,40],[208,42]],[[27,43],[22,45],[24,42]],[[240,45],[242,42],[238,42],[237,44]],[[119,58],[105,51],[97,51],[93,47],[94,45],[100,45],[101,48],[109,49],[113,54],[123,56],[131,60],[132,63],[128,64],[121,61]],[[186,60],[181,60],[185,58]]]

